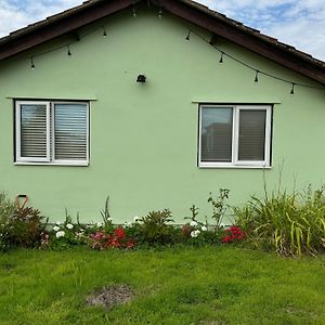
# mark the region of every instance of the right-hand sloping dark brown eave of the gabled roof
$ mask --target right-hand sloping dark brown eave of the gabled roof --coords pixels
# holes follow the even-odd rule
[[[220,20],[212,16],[209,9],[198,10],[196,5],[188,5],[188,0],[152,0],[156,5],[173,13],[174,15],[188,21],[204,29],[211,31],[233,43],[271,60],[282,66],[292,69],[306,77],[309,77],[322,84],[325,84],[325,65],[323,62],[301,53],[292,47],[282,47],[281,43],[272,42],[272,38],[252,34],[249,29],[231,24],[229,18]],[[192,1],[193,2],[193,1]],[[226,22],[230,21],[230,22]],[[250,28],[251,29],[251,28]],[[251,29],[252,30],[252,29]],[[320,64],[321,63],[321,64]]]

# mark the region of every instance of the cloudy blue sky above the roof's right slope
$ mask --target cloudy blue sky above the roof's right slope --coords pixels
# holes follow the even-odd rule
[[[202,0],[200,2],[300,51],[325,60],[324,0]]]

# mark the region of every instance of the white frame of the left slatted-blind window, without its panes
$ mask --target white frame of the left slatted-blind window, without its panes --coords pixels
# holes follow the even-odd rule
[[[55,159],[55,136],[54,136],[54,106],[55,104],[82,104],[87,106],[87,157],[80,160]],[[47,106],[47,157],[22,157],[22,105],[46,105]],[[89,107],[88,102],[67,102],[67,101],[16,101],[15,102],[15,165],[67,165],[67,166],[88,166],[89,165]],[[51,143],[52,138],[52,143]]]

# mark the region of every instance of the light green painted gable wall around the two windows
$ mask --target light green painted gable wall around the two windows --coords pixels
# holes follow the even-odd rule
[[[0,190],[27,194],[51,221],[63,220],[65,208],[79,211],[81,221],[99,221],[109,194],[115,222],[162,208],[182,222],[192,204],[208,213],[208,194],[220,187],[231,190],[232,204],[261,193],[263,173],[272,188],[282,164],[284,187],[325,181],[324,91],[297,87],[290,95],[290,86],[263,76],[256,83],[253,72],[230,58],[219,64],[219,53],[198,37],[186,42],[186,24],[168,14],[158,20],[142,8],[136,18],[127,12],[103,23],[108,37],[89,35],[72,46],[72,57],[57,50],[36,57],[30,69],[29,55],[62,39],[0,65]],[[259,69],[314,84],[230,42],[219,46]],[[145,84],[135,82],[141,73]],[[90,166],[14,166],[10,98],[95,99]],[[197,168],[196,101],[281,103],[273,113],[272,169]]]

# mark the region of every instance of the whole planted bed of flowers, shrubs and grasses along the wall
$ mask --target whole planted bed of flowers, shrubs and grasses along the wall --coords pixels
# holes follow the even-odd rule
[[[225,227],[222,220],[230,208],[229,190],[210,193],[211,214],[204,218],[192,205],[191,217],[182,226],[173,224],[169,209],[134,217],[132,222],[114,224],[108,197],[101,211],[103,222],[80,224],[66,211],[65,220],[47,226],[40,211],[17,207],[0,193],[0,250],[15,247],[63,250],[87,245],[93,249],[133,249],[170,245],[246,245],[275,250],[282,256],[317,255],[325,248],[324,188],[303,193],[277,192],[263,198],[251,197],[244,207],[233,207],[236,224]],[[203,221],[204,219],[204,221]],[[209,224],[208,220],[214,220]]]

